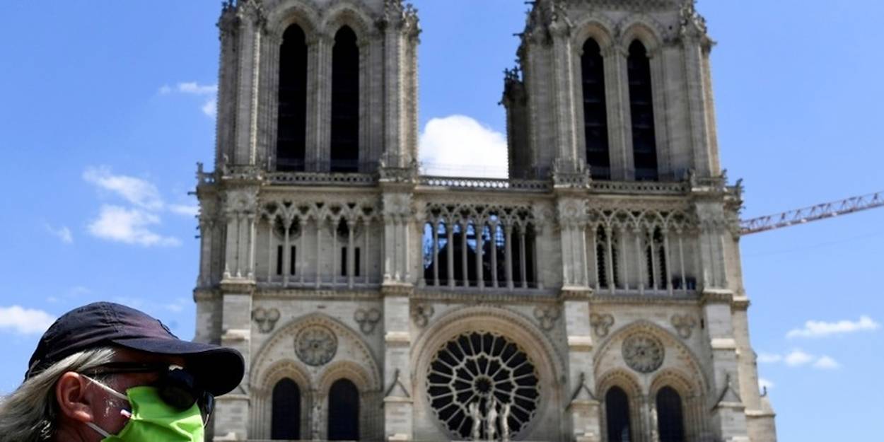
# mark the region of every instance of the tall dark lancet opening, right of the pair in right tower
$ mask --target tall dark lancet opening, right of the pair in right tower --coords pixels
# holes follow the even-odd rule
[[[632,157],[636,179],[657,179],[657,140],[651,90],[651,60],[644,44],[629,45],[629,110],[632,114]]]

